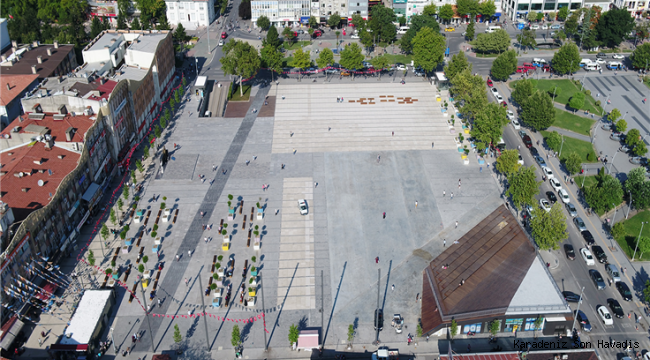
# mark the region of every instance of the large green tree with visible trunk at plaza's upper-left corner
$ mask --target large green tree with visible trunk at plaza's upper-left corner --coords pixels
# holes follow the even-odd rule
[[[257,49],[248,42],[230,41],[223,47],[223,56],[219,59],[225,74],[239,76],[240,95],[244,96],[244,79],[255,75],[260,68],[260,56]]]

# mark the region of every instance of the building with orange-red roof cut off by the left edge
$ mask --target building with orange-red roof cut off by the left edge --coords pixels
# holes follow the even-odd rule
[[[0,129],[22,114],[20,99],[38,85],[38,75],[0,74]]]

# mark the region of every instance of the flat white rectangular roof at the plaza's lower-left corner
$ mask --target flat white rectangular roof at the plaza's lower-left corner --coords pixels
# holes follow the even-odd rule
[[[97,328],[97,323],[101,321],[102,313],[110,297],[111,290],[86,290],[59,343],[63,345],[88,344]]]

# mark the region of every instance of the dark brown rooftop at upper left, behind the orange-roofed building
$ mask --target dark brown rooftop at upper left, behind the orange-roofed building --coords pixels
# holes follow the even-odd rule
[[[2,62],[0,66],[0,74],[19,75],[19,74],[32,74],[32,65],[36,65],[36,73],[39,78],[46,78],[53,76],[54,70],[61,64],[61,62],[73,51],[72,45],[59,45],[56,49],[54,45],[39,45],[38,47],[22,47],[16,52],[20,54],[21,59],[14,62],[9,66],[8,61],[15,57],[13,49],[9,48],[2,55],[7,57],[6,61]],[[47,49],[51,49],[52,55],[47,54]],[[38,63],[38,57],[42,56],[43,63]]]

